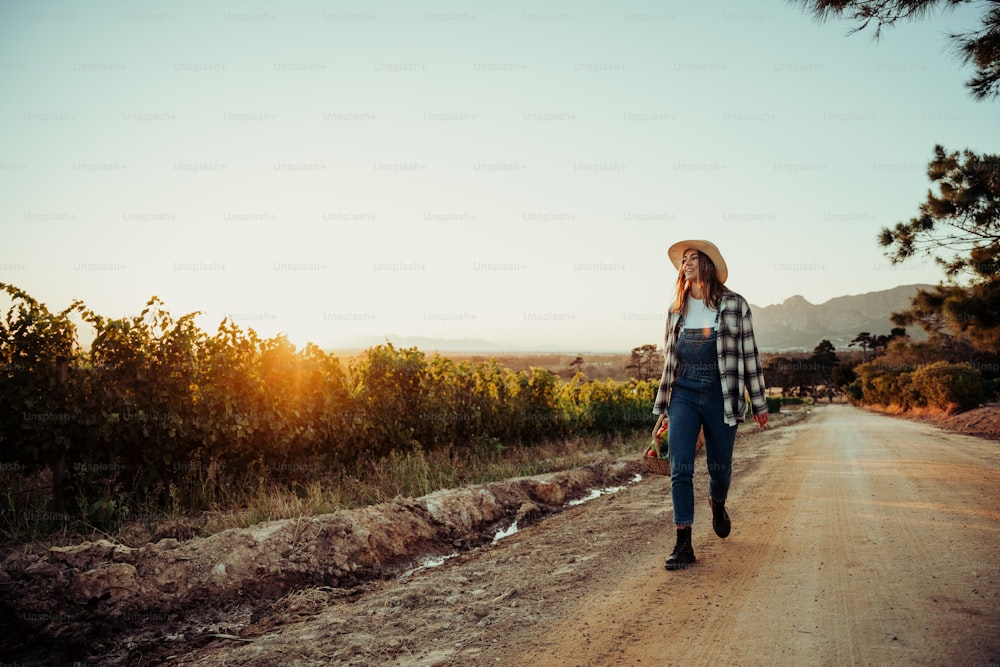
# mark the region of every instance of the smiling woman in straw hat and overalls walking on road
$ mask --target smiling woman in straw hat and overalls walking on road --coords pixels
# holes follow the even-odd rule
[[[667,255],[678,269],[677,293],[667,315],[666,363],[653,405],[653,414],[660,417],[653,434],[655,438],[666,419],[677,527],[677,544],[666,568],[678,570],[695,562],[692,479],[698,432],[705,434],[712,527],[716,535],[727,537],[726,497],[736,426],[747,411],[746,392],[760,428],[767,423],[767,401],[750,306],[725,287],[729,271],[722,253],[708,241],[681,241]]]

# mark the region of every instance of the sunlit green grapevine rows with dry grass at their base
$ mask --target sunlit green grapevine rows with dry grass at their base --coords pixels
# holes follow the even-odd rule
[[[653,380],[391,344],[343,361],[229,321],[206,333],[155,297],[109,319],[0,288],[6,544],[136,523],[212,531],[538,474],[637,449],[652,423]]]

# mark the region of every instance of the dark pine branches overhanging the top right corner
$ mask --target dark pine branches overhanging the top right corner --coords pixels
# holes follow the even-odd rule
[[[874,38],[882,35],[884,28],[896,23],[922,18],[943,6],[954,9],[959,5],[973,4],[974,0],[797,0],[819,20],[831,16],[850,18],[856,25],[850,33],[861,32],[874,26]],[[949,34],[963,64],[976,68],[975,75],[966,86],[977,100],[1000,96],[1000,3],[988,3],[979,29]]]

